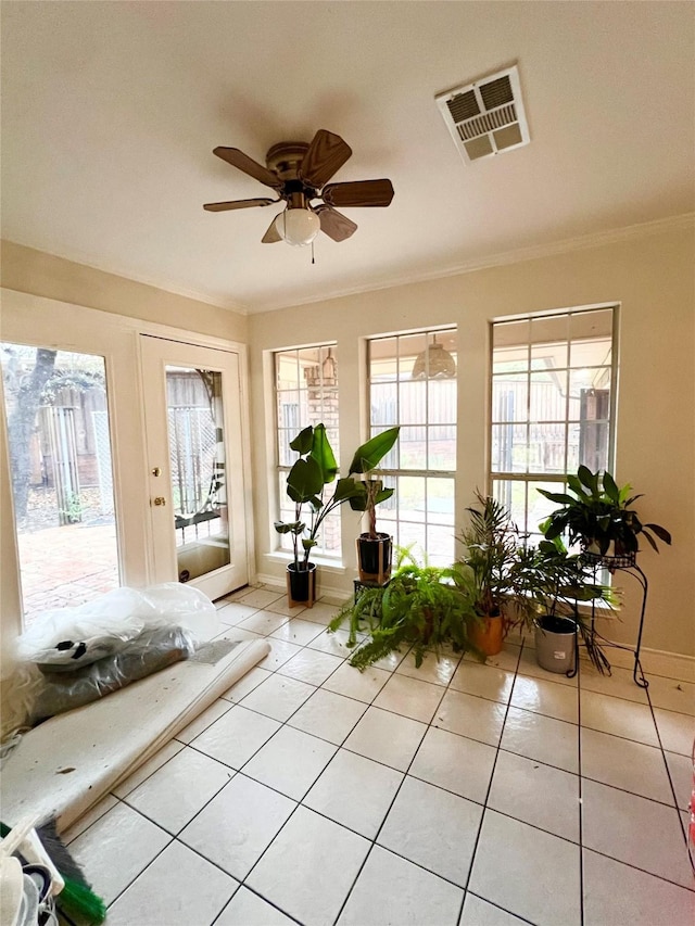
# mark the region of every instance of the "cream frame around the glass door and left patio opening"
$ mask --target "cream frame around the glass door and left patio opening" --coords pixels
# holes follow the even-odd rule
[[[99,308],[62,302],[33,293],[0,288],[2,301],[3,341],[37,347],[54,347],[100,354],[104,357],[108,381],[108,407],[112,439],[114,478],[114,505],[121,582],[141,587],[153,584],[152,536],[149,518],[142,511],[149,507],[148,460],[143,414],[143,382],[140,370],[139,335],[153,334],[201,347],[232,351],[239,356],[241,404],[242,467],[247,491],[244,519],[249,581],[255,580],[254,530],[252,505],[252,469],[249,409],[248,347],[238,341],[228,341],[195,331],[132,318]],[[4,405],[0,407],[2,441],[7,440]],[[7,453],[7,451],[5,451]],[[4,454],[3,454],[4,456]],[[7,460],[0,469],[7,471]],[[0,473],[2,474],[2,473]],[[8,473],[9,475],[9,473]],[[10,551],[15,543],[14,518],[3,504],[3,568],[0,596],[0,630],[3,631],[3,650],[14,639],[18,630],[17,607],[21,583],[18,562],[5,560],[5,543]],[[8,528],[7,522],[10,521]],[[8,534],[8,536],[5,536]]]

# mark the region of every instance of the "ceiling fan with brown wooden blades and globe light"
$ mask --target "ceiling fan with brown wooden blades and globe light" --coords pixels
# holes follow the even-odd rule
[[[328,182],[351,156],[352,149],[340,136],[326,129],[319,129],[311,143],[281,141],[274,144],[266,154],[265,167],[238,148],[215,148],[213,154],[270,187],[278,198],[205,203],[204,210],[225,212],[287,203],[261,239],[264,244],[276,241],[309,244],[319,231],[333,241],[344,241],[357,226],[333,206],[388,206],[393,199],[391,180]],[[323,202],[313,204],[313,200]]]

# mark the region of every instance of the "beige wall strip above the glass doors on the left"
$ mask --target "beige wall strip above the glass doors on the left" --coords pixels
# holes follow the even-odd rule
[[[0,286],[185,331],[247,342],[243,315],[53,257],[12,241],[2,241]]]

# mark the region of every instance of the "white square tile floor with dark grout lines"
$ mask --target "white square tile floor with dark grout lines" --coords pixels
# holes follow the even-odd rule
[[[109,926],[690,926],[695,686],[405,652],[225,602],[270,655],[65,835]],[[654,696],[652,696],[654,693]]]

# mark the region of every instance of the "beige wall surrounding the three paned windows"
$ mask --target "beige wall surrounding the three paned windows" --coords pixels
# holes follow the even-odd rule
[[[271,473],[271,405],[265,393],[264,352],[337,339],[340,358],[342,464],[364,436],[361,338],[424,326],[459,327],[459,430],[457,523],[476,485],[485,480],[488,322],[528,312],[594,304],[621,305],[618,396],[618,480],[645,498],[644,519],[664,524],[673,546],[660,555],[645,549],[649,601],[644,645],[695,655],[695,234],[680,224],[644,237],[602,246],[346,296],[251,316],[250,367],[255,429],[256,560],[261,572],[281,574],[264,556],[274,537],[268,524]],[[266,370],[267,377],[267,370]],[[356,534],[343,518],[343,557],[352,567]],[[329,571],[330,574],[330,571]],[[330,575],[345,591],[354,573]],[[634,637],[637,583],[619,575],[624,588],[622,621],[611,632]]]

